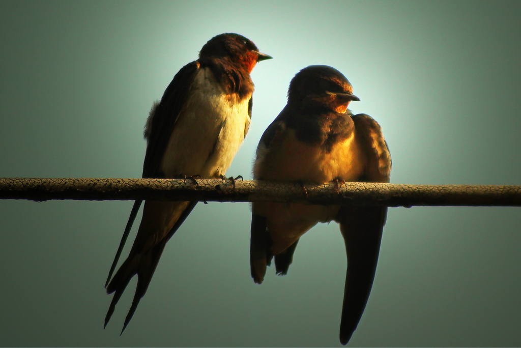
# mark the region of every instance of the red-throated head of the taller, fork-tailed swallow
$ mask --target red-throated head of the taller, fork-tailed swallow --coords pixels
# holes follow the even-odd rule
[[[258,61],[271,59],[244,36],[226,33],[214,36],[201,49],[199,58],[224,58],[252,72]]]

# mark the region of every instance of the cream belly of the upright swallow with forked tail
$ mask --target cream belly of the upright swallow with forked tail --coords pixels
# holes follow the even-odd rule
[[[213,73],[201,69],[163,157],[161,168],[166,177],[224,175],[250,124],[250,97],[230,102]]]

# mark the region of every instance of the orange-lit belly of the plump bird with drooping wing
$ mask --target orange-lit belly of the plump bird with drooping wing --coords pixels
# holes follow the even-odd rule
[[[254,176],[262,180],[303,181],[325,183],[334,179],[354,181],[363,172],[360,148],[352,136],[326,153],[319,146],[296,139],[293,130],[281,137],[281,142],[269,152],[259,153]],[[272,252],[278,254],[298,240],[317,222],[329,222],[338,213],[338,205],[308,205],[257,202],[254,214],[266,216],[268,232],[273,241]]]

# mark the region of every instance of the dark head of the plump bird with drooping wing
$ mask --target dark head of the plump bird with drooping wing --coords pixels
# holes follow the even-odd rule
[[[327,65],[302,69],[291,80],[288,90],[288,104],[319,104],[342,114],[351,101],[360,101],[353,94],[353,86],[340,71]]]

